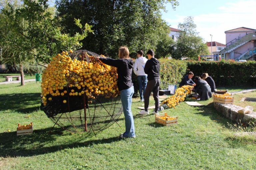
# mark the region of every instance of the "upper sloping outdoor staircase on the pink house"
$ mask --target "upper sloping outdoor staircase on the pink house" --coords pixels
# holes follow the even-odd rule
[[[237,39],[236,42],[234,42],[231,45],[227,46],[226,48],[222,49],[219,53],[229,53],[251,40],[256,40],[254,33],[247,34],[246,36],[244,36],[240,39]]]

